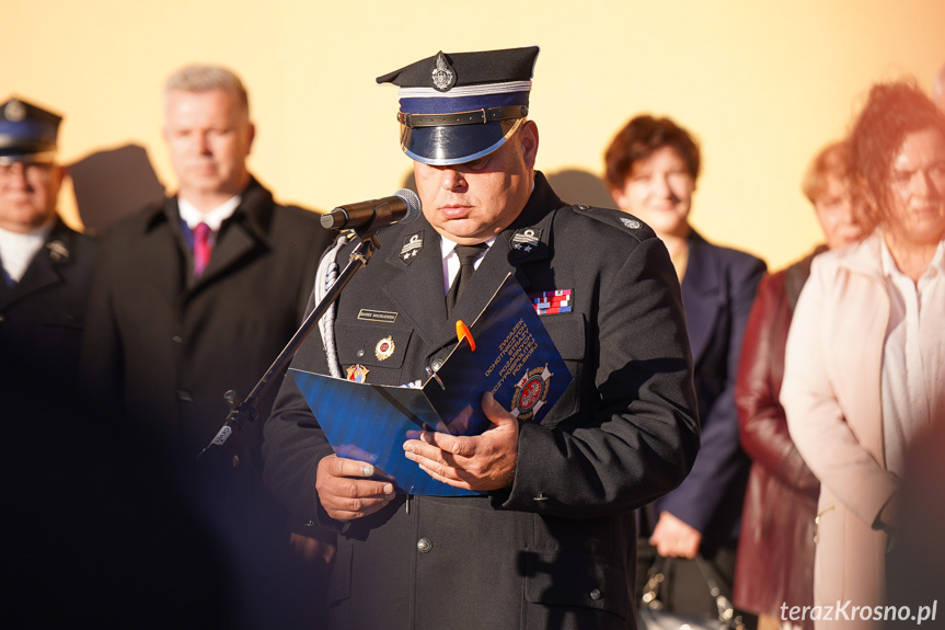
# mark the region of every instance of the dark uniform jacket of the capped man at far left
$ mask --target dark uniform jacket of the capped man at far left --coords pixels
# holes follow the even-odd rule
[[[16,286],[0,282],[1,371],[74,385],[96,250],[57,219]]]

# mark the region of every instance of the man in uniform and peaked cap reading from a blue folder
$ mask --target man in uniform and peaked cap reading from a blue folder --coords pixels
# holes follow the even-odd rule
[[[405,458],[469,496],[396,494],[371,465],[336,456],[284,381],[266,480],[298,523],[339,532],[330,628],[635,627],[633,509],[678,485],[699,446],[682,300],[653,230],[562,202],[534,170],[538,53],[439,53],[378,79],[400,88],[423,216],[381,229],[377,260],[341,294],[326,327],[337,360],[312,335],[293,364],[425,380],[457,320],[511,273],[527,294],[568,296],[561,312],[538,311],[574,381],[541,424],[519,425],[484,394],[483,434],[404,442]],[[352,248],[326,255],[343,265]],[[379,311],[395,317],[358,317]]]

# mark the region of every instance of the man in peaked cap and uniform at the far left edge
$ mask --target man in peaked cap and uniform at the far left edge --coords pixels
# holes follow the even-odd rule
[[[76,381],[95,256],[56,214],[61,121],[21,99],[0,105],[0,363],[50,388]]]

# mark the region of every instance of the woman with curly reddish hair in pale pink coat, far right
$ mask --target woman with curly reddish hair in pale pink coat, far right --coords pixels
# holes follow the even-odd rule
[[[945,117],[910,83],[875,85],[850,145],[877,227],[814,261],[781,391],[821,482],[817,628],[877,628],[897,605],[884,573],[903,453],[945,414]]]

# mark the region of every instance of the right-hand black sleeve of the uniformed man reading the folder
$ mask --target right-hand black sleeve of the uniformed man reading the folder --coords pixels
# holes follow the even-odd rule
[[[600,278],[588,356],[597,399],[554,427],[526,424],[502,507],[592,518],[676,488],[699,449],[682,297],[662,243],[647,239]]]

